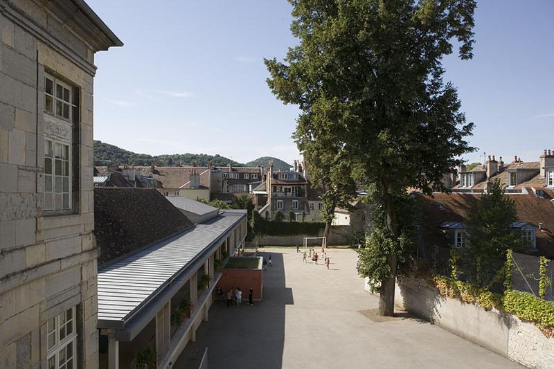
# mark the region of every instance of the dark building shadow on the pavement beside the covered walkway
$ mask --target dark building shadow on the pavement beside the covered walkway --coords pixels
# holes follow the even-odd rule
[[[260,252],[272,266],[263,273],[262,301],[249,306],[243,300],[237,306],[226,307],[216,301],[197,330],[197,341],[190,342],[173,368],[197,368],[196,362],[208,347],[208,368],[280,369],[285,340],[285,306],[293,305],[292,289],[285,287],[283,255]],[[238,286],[247,292],[249,286]],[[247,293],[243,294],[247,298]]]

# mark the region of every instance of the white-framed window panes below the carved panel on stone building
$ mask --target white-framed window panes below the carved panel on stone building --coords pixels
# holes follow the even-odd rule
[[[69,145],[44,140],[44,210],[71,209],[70,158]]]

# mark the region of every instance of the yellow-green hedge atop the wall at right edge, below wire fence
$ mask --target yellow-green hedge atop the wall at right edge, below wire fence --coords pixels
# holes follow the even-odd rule
[[[554,302],[542,300],[527,292],[509,290],[504,293],[504,310],[544,329],[554,328]]]

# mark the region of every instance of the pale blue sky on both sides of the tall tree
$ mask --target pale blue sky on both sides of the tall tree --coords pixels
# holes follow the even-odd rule
[[[94,137],[147,154],[246,162],[298,157],[298,109],[269,91],[263,57],[296,42],[285,0],[87,0],[124,42],[96,54]],[[467,155],[536,161],[554,150],[554,1],[483,0],[474,59],[445,59],[467,119]]]

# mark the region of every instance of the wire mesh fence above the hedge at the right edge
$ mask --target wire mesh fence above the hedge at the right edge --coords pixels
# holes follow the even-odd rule
[[[523,253],[512,253],[512,289],[529,292],[539,296],[540,258]],[[554,262],[546,264],[546,294],[545,300],[554,301]]]

